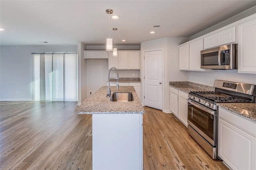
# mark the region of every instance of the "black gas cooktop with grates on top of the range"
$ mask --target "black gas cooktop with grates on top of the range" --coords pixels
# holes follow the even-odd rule
[[[250,102],[238,97],[222,94],[216,91],[190,91],[189,94],[213,101],[215,103],[248,103]]]

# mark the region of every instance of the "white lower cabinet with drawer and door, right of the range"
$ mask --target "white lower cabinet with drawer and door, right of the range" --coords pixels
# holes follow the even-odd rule
[[[232,170],[255,170],[256,123],[219,107],[218,156]]]

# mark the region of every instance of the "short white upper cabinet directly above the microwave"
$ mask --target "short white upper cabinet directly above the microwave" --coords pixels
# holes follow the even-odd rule
[[[204,38],[204,49],[236,42],[236,27],[231,27]]]

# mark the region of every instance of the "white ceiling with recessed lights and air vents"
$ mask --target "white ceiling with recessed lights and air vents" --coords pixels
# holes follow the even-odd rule
[[[256,0],[0,0],[1,45],[138,45],[164,37],[189,37],[252,6]],[[110,20],[106,9],[118,20]],[[161,24],[155,34],[153,25]],[[126,42],[121,42],[126,39]]]

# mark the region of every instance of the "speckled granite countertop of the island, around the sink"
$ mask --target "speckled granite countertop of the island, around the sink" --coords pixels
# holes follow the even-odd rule
[[[75,109],[77,114],[144,114],[144,108],[138,98],[138,95],[133,86],[111,86],[111,93],[132,92],[134,101],[116,102],[110,101],[110,97],[106,97],[108,86],[102,86],[91,97],[82,102]]]

